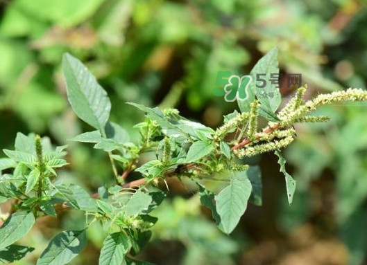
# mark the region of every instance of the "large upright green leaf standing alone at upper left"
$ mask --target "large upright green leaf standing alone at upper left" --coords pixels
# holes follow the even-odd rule
[[[92,73],[69,53],[62,57],[62,71],[67,82],[67,97],[76,115],[104,133],[111,110],[105,90]]]

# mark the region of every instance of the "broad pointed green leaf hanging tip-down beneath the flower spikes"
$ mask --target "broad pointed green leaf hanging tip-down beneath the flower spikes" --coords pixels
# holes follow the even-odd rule
[[[230,234],[234,230],[242,214],[246,211],[251,190],[251,183],[246,172],[239,171],[233,172],[230,185],[216,195],[216,211],[221,217],[219,229],[226,234]]]

